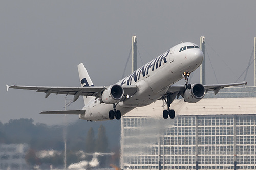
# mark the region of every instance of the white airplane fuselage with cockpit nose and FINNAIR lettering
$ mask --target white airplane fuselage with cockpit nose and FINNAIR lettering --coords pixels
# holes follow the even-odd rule
[[[203,61],[202,51],[199,48],[180,51],[184,46],[197,45],[190,42],[178,44],[116,83],[121,86],[136,85],[138,88],[134,95],[117,104],[116,109],[121,111],[121,115],[160,99],[170,85],[183,78],[184,72],[191,73],[200,66]],[[113,105],[100,103],[99,98],[94,98],[83,109],[86,109],[86,113],[79,115],[80,119],[109,120],[109,111],[113,110]]]

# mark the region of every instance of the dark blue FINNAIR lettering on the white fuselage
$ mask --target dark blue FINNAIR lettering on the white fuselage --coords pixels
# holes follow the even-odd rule
[[[152,71],[154,71],[155,68],[157,69],[158,67],[161,67],[162,61],[164,63],[167,63],[166,57],[169,55],[169,52],[170,52],[170,50],[166,51],[165,53],[158,56],[157,58],[155,58],[151,62],[143,65],[141,68],[134,71],[131,75],[126,76],[123,79],[123,81],[121,82],[121,86],[124,85],[125,83],[126,83],[127,86],[131,85],[132,80],[134,80],[134,82],[137,82],[138,80],[140,80],[140,75],[141,74],[142,74],[143,77],[145,77],[146,75],[149,74],[150,67],[152,67]]]

